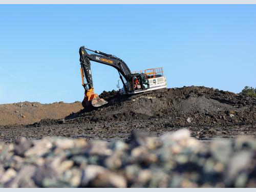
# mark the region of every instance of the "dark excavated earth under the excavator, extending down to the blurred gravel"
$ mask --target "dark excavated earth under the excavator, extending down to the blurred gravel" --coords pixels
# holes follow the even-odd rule
[[[161,89],[124,96],[103,92],[109,103],[87,108],[63,119],[43,119],[28,125],[0,125],[0,140],[23,136],[86,139],[127,139],[132,131],[159,136],[186,128],[198,139],[256,136],[256,98],[205,87]]]

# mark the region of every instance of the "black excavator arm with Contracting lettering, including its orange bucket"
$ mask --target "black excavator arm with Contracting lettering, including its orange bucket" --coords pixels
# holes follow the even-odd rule
[[[88,54],[86,50],[92,51],[97,54]],[[79,54],[80,54],[82,86],[85,89],[84,99],[82,102],[82,105],[84,107],[86,107],[88,104],[92,104],[93,106],[97,107],[107,103],[107,101],[99,98],[99,96],[95,94],[93,91],[93,79],[92,79],[90,61],[95,61],[95,62],[102,63],[104,65],[114,67],[118,71],[120,79],[125,88],[125,83],[123,78],[126,81],[128,81],[132,73],[129,67],[126,65],[126,63],[122,59],[114,55],[106,54],[100,51],[93,51],[85,47],[80,47]],[[84,83],[84,77],[86,77],[87,83]]]

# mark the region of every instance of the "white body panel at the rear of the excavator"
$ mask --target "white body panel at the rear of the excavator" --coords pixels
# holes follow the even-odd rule
[[[167,87],[165,77],[150,78],[150,79],[148,79],[148,82],[150,83],[150,86],[149,86],[148,89],[146,89],[146,90],[135,90],[135,91],[132,91],[132,92],[128,92],[127,94],[131,95],[131,94],[142,93],[142,92],[146,92],[146,91],[153,91],[153,90],[162,89],[162,88]],[[125,94],[124,88],[122,88],[120,90],[120,94]]]

